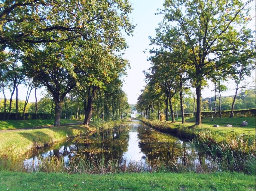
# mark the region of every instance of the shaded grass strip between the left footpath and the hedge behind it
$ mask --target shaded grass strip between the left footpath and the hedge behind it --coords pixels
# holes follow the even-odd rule
[[[60,124],[71,124],[71,123],[82,123],[82,119],[61,119]],[[8,129],[26,129],[26,128],[36,128],[41,126],[53,126],[54,120],[7,120],[0,121],[0,130]]]

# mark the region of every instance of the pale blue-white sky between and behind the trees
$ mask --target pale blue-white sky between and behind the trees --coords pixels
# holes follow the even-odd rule
[[[137,99],[141,94],[141,90],[144,89],[144,86],[146,85],[144,81],[145,76],[142,71],[147,70],[151,66],[150,62],[147,61],[147,57],[150,56],[148,50],[153,47],[149,46],[150,40],[148,36],[155,36],[155,28],[157,28],[158,23],[163,20],[163,15],[155,15],[155,13],[159,12],[157,11],[158,8],[163,8],[164,0],[130,0],[130,2],[134,9],[130,14],[130,19],[131,22],[136,25],[136,28],[133,36],[126,36],[126,41],[129,48],[126,49],[123,58],[130,62],[131,69],[127,70],[128,75],[125,77],[122,89],[127,94],[129,104],[136,104]],[[255,16],[255,9],[253,11],[254,12],[252,14]],[[252,24],[250,27],[254,28],[255,30],[255,17],[251,23]],[[252,73],[252,76],[255,79],[255,71]],[[252,81],[252,78],[246,81]],[[252,83],[255,86],[255,83]],[[225,85],[227,85],[230,90],[223,92],[222,96],[233,96],[235,94],[235,84],[233,82],[228,82]],[[209,83],[209,89],[207,87],[203,89],[202,97],[206,98],[214,96],[215,93],[212,91],[212,89],[213,85]],[[195,91],[194,89],[191,90],[193,92]],[[24,86],[21,85],[19,87],[18,98],[25,100],[26,91],[27,90],[24,88]],[[37,92],[38,99],[44,97],[44,89],[40,89]],[[10,93],[8,90],[5,90],[5,94],[7,98],[10,98]],[[0,94],[0,98],[3,98],[2,93]],[[31,93],[29,102],[35,102],[34,92]]]

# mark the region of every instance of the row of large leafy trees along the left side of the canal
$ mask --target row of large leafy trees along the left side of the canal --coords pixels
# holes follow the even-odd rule
[[[97,109],[108,115],[108,104],[112,101],[115,104],[111,105],[112,113],[121,114],[126,107],[120,103],[123,101],[120,97],[125,97],[120,89],[121,79],[129,67],[122,58],[127,47],[123,33],[133,33],[134,26],[128,18],[131,10],[126,0],[3,1],[0,80],[4,113],[7,113],[5,89],[12,89],[10,113],[14,91],[17,106],[18,85],[27,83],[30,88],[27,99],[33,88],[36,95],[36,89],[42,86],[52,95],[54,126],[59,126],[67,95],[79,97],[83,103],[86,125],[93,104],[98,104]],[[38,112],[37,101],[35,110]]]

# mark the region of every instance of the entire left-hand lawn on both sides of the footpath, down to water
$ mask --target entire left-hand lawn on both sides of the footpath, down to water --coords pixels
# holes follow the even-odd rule
[[[81,119],[72,120],[72,123],[71,120],[61,119],[60,121],[61,124],[75,124],[81,122],[83,122]],[[0,158],[19,157],[28,150],[36,147],[51,145],[63,141],[68,137],[75,137],[87,132],[96,131],[99,128],[111,128],[114,125],[125,123],[125,120],[94,122],[90,123],[89,126],[67,125],[37,129],[37,127],[47,126],[47,124],[52,125],[53,123],[53,120],[0,121],[0,126],[4,124],[3,127],[5,129],[7,126],[12,128],[11,131],[0,131]],[[28,127],[29,129],[26,129]]]

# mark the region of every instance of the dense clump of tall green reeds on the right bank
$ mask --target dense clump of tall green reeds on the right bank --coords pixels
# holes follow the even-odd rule
[[[213,156],[222,171],[255,174],[255,140],[244,140],[242,136],[233,135],[227,135],[225,141],[215,140],[210,131],[203,131],[191,144],[200,152]]]

